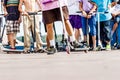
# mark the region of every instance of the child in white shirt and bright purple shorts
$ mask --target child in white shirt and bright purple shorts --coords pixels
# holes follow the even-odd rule
[[[76,14],[79,11],[79,1],[72,0],[68,1],[68,10],[69,10],[69,20],[74,30],[75,39],[77,42],[83,41],[83,32],[82,32],[82,21],[81,16]]]

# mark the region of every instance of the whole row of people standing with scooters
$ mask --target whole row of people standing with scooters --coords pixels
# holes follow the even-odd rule
[[[23,10],[22,6],[25,6]],[[39,8],[36,8],[36,5]],[[47,51],[56,53],[54,38],[54,22],[62,21],[65,25],[70,43],[74,48],[79,48],[80,42],[89,43],[87,35],[92,37],[92,50],[97,50],[98,14],[100,24],[100,42],[106,50],[111,50],[111,39],[120,22],[120,0],[4,0],[4,16],[7,16],[6,29],[8,42],[11,49],[15,49],[16,34],[20,32],[20,23],[23,17],[24,52],[30,52],[30,32],[35,31],[36,52],[43,52],[40,37],[39,17],[34,18],[30,13],[42,11],[43,23],[47,31]],[[114,8],[114,9],[113,9]],[[110,12],[110,10],[113,10]],[[79,14],[77,11],[81,11]],[[117,11],[117,12],[115,12]],[[114,13],[113,13],[114,12]],[[111,20],[114,21],[111,30]],[[59,26],[57,26],[59,27]],[[87,30],[87,27],[88,30]],[[91,43],[88,44],[88,46]]]

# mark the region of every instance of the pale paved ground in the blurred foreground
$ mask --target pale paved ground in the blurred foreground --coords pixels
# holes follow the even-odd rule
[[[120,51],[1,53],[0,80],[120,80]]]

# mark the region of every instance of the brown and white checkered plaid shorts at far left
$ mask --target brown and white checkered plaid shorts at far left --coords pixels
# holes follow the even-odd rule
[[[20,24],[17,20],[16,21],[7,20],[6,23],[7,34],[20,32],[19,26]]]

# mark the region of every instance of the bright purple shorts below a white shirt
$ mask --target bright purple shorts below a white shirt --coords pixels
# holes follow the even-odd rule
[[[82,28],[81,16],[79,15],[70,15],[70,23],[73,28],[80,29]]]

